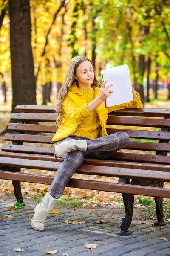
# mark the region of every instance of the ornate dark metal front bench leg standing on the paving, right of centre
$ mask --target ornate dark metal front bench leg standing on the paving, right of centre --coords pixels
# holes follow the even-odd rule
[[[119,179],[119,183],[129,184],[129,179]],[[128,236],[131,233],[128,231],[133,217],[133,204],[134,196],[130,194],[122,194],[124,207],[125,207],[125,218],[122,218],[120,223],[121,231],[118,233],[119,236]]]

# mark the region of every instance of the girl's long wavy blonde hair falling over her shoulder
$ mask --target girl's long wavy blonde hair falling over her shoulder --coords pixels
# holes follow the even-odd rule
[[[86,58],[85,56],[76,56],[71,60],[64,84],[62,85],[61,89],[58,92],[58,100],[57,100],[57,105],[56,105],[56,112],[58,114],[58,117],[56,120],[57,128],[59,128],[59,125],[62,125],[62,120],[65,117],[65,113],[62,108],[62,102],[64,101],[65,97],[67,96],[67,93],[68,93],[71,85],[72,84],[74,84],[76,86],[79,85],[78,81],[77,81],[77,79],[75,79],[74,75],[76,74],[77,67],[79,67],[79,64],[81,64],[83,61],[90,61],[90,60],[88,58]],[[94,68],[93,64],[92,64],[92,67]],[[94,71],[94,82],[92,85],[94,85],[96,87],[101,87],[101,84],[96,79],[95,71]]]

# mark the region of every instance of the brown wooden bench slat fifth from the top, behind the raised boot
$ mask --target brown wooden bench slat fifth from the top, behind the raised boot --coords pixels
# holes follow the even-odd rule
[[[21,153],[29,153],[29,154],[53,155],[53,148],[51,148],[51,147],[48,148],[48,147],[3,144],[1,150],[6,151],[6,152],[21,152]],[[113,154],[112,157],[115,160],[170,164],[170,157],[168,157],[168,156],[118,152],[118,153]]]

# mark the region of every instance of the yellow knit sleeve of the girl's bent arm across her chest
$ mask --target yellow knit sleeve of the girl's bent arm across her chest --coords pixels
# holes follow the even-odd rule
[[[68,97],[65,97],[64,102],[62,103],[65,116],[68,116],[72,119],[73,122],[81,122],[86,117],[92,115],[93,112],[89,112],[87,108],[87,103],[83,104],[81,107],[77,108],[75,103]]]

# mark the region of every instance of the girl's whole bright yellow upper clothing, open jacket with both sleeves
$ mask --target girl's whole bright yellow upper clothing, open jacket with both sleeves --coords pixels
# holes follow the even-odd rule
[[[94,89],[94,98],[99,95],[100,88],[93,86]],[[90,89],[91,90],[91,89]],[[109,108],[104,108],[103,102],[96,108],[95,111],[89,112],[87,108],[87,102],[88,94],[83,94],[82,91],[79,90],[79,88],[72,84],[70,90],[68,91],[67,96],[64,99],[64,102],[62,103],[63,110],[65,112],[65,118],[63,119],[63,124],[59,126],[58,130],[56,131],[56,134],[52,138],[52,142],[55,143],[56,141],[63,140],[64,138],[70,136],[70,135],[79,135],[91,138],[91,136],[94,137],[103,137],[107,136],[106,131],[106,123],[108,119],[108,114],[112,111],[124,109],[124,108],[141,108],[142,104],[140,101],[139,93],[137,93],[137,98],[133,99],[131,102],[127,102],[124,104],[112,106]],[[86,96],[85,96],[86,95]],[[97,113],[97,115],[95,114]],[[92,117],[93,116],[93,117]],[[94,119],[96,116],[96,131],[95,131],[95,125],[94,125]],[[98,125],[98,117],[99,122],[101,125],[100,133],[99,131],[99,125]],[[87,118],[90,118],[90,122],[87,122]],[[87,124],[87,130],[85,129],[85,123],[83,125],[83,121],[85,120],[85,123]],[[93,120],[93,121],[92,121]],[[93,126],[93,129],[92,129]],[[89,129],[91,132],[88,132]],[[86,135],[87,134],[87,135]]]

